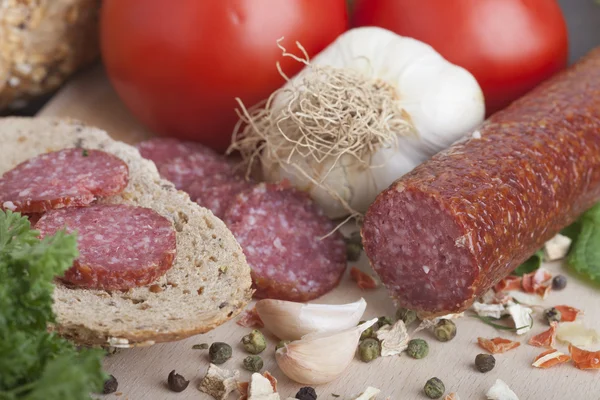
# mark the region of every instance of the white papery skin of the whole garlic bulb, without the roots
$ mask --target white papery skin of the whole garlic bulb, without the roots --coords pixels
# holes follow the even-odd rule
[[[294,92],[307,87],[303,79],[313,72],[311,68],[319,66],[359,72],[365,79],[385,83],[382,86],[390,91],[409,128],[398,131],[393,142],[377,144],[369,151],[324,159],[307,156],[305,146],[288,151],[277,140],[267,140],[259,156],[263,178],[286,179],[307,191],[330,218],[366,212],[375,197],[396,179],[475,129],[484,118],[483,93],[468,71],[423,42],[382,28],[361,27],[339,36],[288,81],[272,99],[274,119]],[[294,117],[305,114],[298,111]],[[335,117],[318,123],[327,123],[340,132],[348,123],[340,120],[336,125],[329,122],[331,118]],[[294,133],[288,129],[281,136],[284,134]]]

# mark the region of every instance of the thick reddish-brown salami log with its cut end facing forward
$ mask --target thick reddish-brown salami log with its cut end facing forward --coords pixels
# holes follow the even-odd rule
[[[362,228],[391,295],[466,309],[600,200],[600,49],[382,192]]]

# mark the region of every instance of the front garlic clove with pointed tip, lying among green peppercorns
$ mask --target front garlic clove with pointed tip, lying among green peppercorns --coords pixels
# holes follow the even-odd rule
[[[320,385],[339,377],[350,365],[360,335],[377,322],[365,323],[337,333],[311,333],[277,350],[275,359],[291,380],[305,385]]]

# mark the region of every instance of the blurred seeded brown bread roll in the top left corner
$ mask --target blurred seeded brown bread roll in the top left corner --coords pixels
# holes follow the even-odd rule
[[[99,54],[100,0],[0,0],[0,109],[58,88]]]

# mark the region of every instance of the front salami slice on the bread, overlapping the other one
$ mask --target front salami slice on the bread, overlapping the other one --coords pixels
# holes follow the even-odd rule
[[[171,268],[175,230],[149,208],[93,205],[50,211],[35,228],[41,237],[61,229],[77,233],[79,258],[63,277],[87,289],[117,290],[147,285]]]

